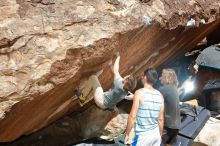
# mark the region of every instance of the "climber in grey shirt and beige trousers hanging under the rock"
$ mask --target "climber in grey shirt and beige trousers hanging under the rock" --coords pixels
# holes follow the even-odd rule
[[[93,86],[94,101],[101,109],[114,109],[116,104],[123,99],[132,100],[133,94],[131,93],[136,87],[136,80],[133,76],[128,75],[124,78],[119,73],[119,53],[116,53],[116,60],[112,67],[114,74],[114,83],[110,91],[103,92],[97,75],[90,77],[90,83]]]

